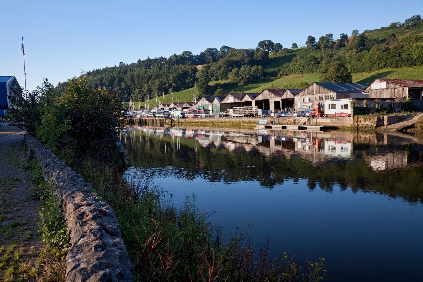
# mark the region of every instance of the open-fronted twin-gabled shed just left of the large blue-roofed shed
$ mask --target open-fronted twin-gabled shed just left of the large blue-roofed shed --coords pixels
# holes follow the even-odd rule
[[[271,110],[275,113],[280,110],[293,111],[294,97],[303,89],[264,89],[254,98],[254,105],[261,110]]]

